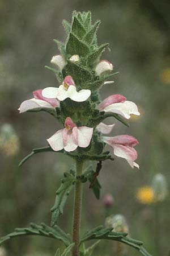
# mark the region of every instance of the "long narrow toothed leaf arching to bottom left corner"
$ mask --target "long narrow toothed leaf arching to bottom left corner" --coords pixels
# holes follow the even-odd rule
[[[56,240],[62,241],[65,246],[69,246],[71,243],[69,235],[63,232],[63,230],[62,232],[59,232],[44,223],[41,225],[31,223],[30,228],[16,228],[14,232],[0,238],[0,245],[5,241],[10,240],[11,238],[18,236],[44,236],[48,238],[54,238]]]

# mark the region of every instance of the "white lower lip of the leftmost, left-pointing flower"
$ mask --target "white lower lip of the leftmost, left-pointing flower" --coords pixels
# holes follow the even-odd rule
[[[19,113],[27,112],[31,109],[38,109],[38,108],[50,108],[53,109],[53,106],[50,105],[46,101],[37,100],[35,98],[31,98],[30,100],[22,102],[19,108]]]

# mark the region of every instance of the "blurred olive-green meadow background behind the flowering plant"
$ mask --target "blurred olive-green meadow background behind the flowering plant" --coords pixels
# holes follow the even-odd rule
[[[130,236],[145,242],[153,255],[169,255],[169,194],[159,203],[151,193],[137,199],[140,187],[150,186],[155,174],[169,172],[169,92],[170,92],[170,3],[159,0],[1,0],[0,1],[0,129],[1,185],[0,236],[29,222],[50,224],[50,207],[63,172],[73,162],[66,156],[42,153],[23,167],[19,161],[32,148],[46,146],[59,125],[47,113],[18,114],[20,103],[32,91],[58,86],[53,73],[44,68],[58,53],[54,38],[65,40],[62,19],[70,21],[73,10],[91,10],[93,21],[101,19],[99,43],[109,42],[104,59],[120,74],[114,84],[101,90],[102,98],[120,93],[137,102],[140,117],[132,117],[127,128],[116,123],[112,135],[130,134],[140,144],[138,163],[133,170],[124,159],[105,162],[99,176],[101,198],[96,200],[84,185],[82,230],[104,224],[111,214],[123,214]],[[104,207],[110,193],[114,202]],[[71,232],[73,195],[59,224]],[[50,256],[61,243],[45,238],[15,238],[4,243],[2,255]],[[139,255],[133,249],[116,251],[113,242],[101,242],[94,256]]]

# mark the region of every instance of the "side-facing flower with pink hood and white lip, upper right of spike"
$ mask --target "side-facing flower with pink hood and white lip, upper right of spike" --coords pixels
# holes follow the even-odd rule
[[[137,105],[132,101],[127,101],[120,94],[113,94],[101,102],[97,107],[100,112],[113,112],[129,119],[130,114],[140,115]]]

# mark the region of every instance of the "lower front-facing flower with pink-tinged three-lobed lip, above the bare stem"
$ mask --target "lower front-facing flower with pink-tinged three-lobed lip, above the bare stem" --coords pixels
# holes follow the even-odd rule
[[[65,128],[57,131],[47,141],[54,151],[64,148],[65,151],[74,151],[79,147],[88,147],[93,134],[93,128],[82,126],[76,127],[70,117],[65,120]]]

